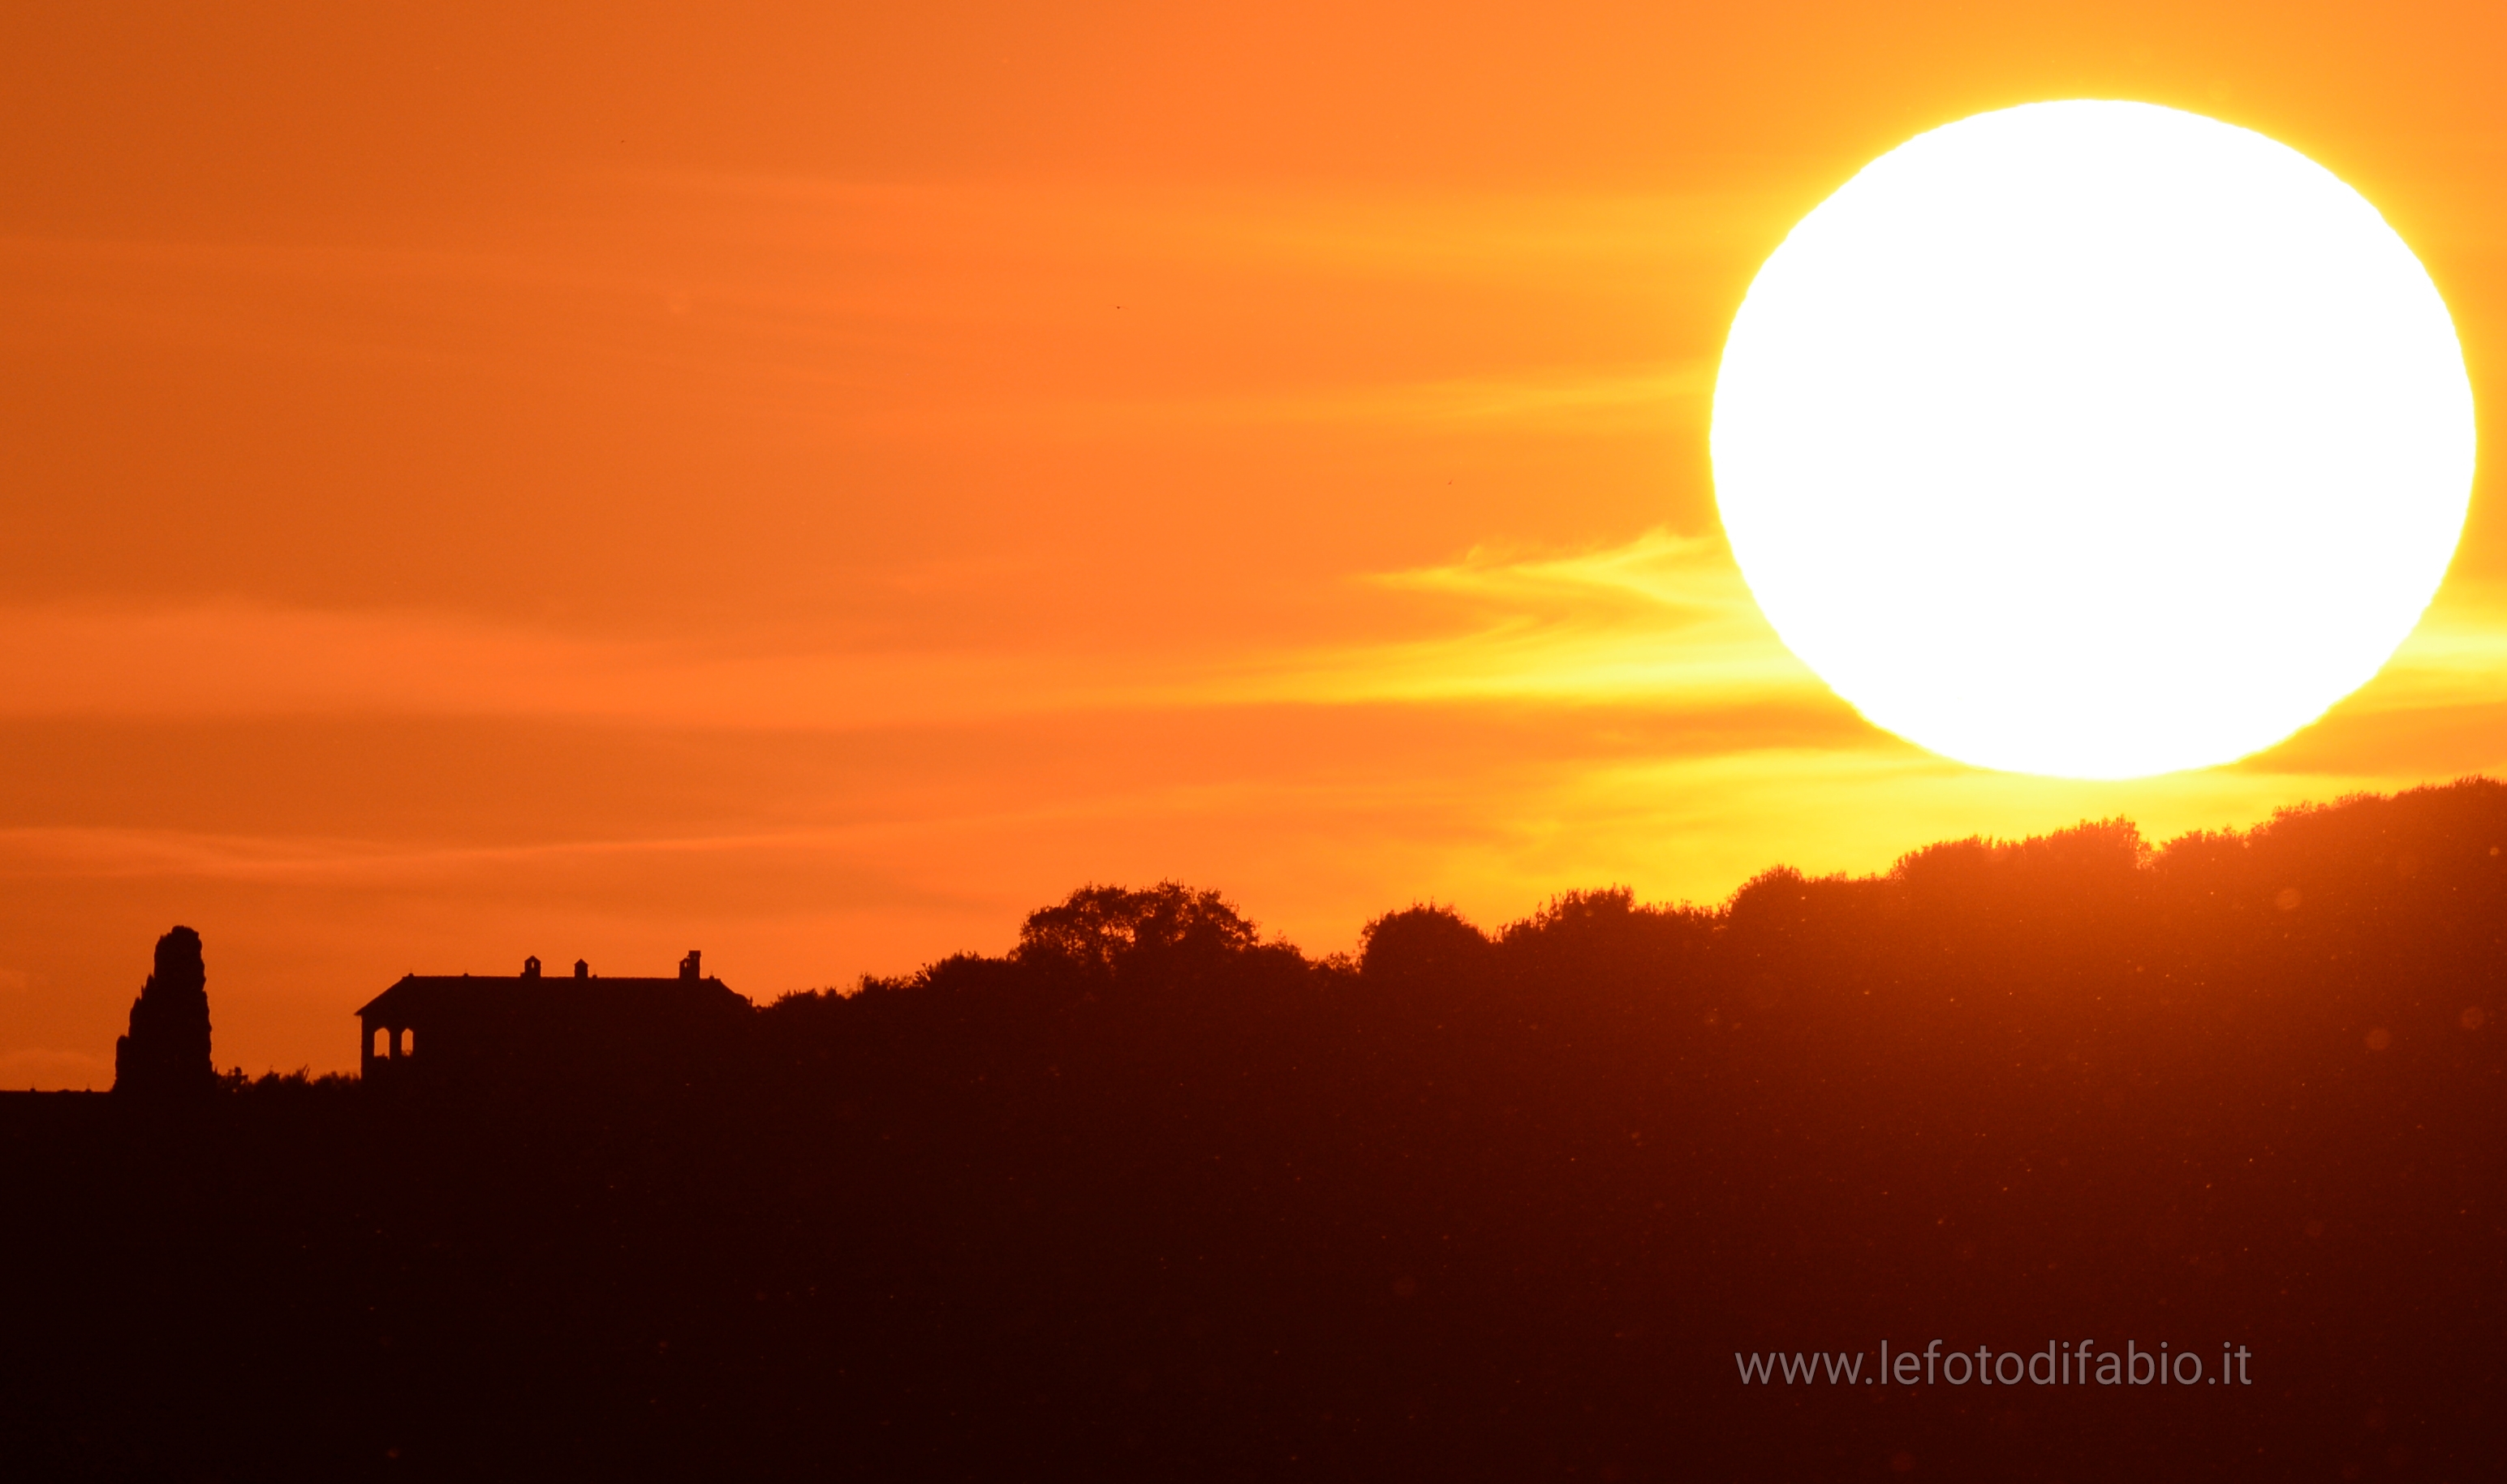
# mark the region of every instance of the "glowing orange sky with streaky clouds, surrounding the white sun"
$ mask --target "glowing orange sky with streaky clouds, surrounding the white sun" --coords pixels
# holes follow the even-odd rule
[[[2484,8],[211,10],[0,10],[0,1085],[170,922],[221,1065],[343,1068],[524,953],[772,998],[1158,877],[1321,953],[2507,767],[2487,474],[2326,722],[2068,785],[1855,719],[1705,461],[1803,211],[2076,95],[2362,188],[2492,439]]]

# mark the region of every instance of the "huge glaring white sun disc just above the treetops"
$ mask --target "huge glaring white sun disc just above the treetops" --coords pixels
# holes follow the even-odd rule
[[[2033,103],[1880,155],[1732,321],[1715,499],[1865,717],[2061,777],[2244,757],[2419,622],[2472,494],[2427,271],[2259,133]]]

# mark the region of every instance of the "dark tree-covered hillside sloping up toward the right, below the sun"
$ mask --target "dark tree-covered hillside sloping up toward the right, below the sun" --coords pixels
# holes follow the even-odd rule
[[[20,1095],[0,1474],[2494,1479],[2502,845],[2467,782],[1356,965],[1098,890],[694,1085]],[[1883,1339],[2251,1384],[1732,1359]]]

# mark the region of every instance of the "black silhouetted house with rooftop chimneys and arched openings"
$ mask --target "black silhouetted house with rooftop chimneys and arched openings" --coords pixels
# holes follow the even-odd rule
[[[547,978],[539,958],[519,975],[406,975],[359,1008],[359,1065],[384,1085],[679,1083],[755,1018],[697,965],[689,950],[674,978],[599,978],[584,960]]]

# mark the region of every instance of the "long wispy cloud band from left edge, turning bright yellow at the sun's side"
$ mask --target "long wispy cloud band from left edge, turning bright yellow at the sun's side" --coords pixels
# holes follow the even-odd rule
[[[1820,699],[1720,541],[1472,551],[1356,579],[1434,637],[1193,662],[1143,654],[740,649],[444,614],[271,607],[0,612],[0,714],[514,714],[880,727],[1213,704]]]

